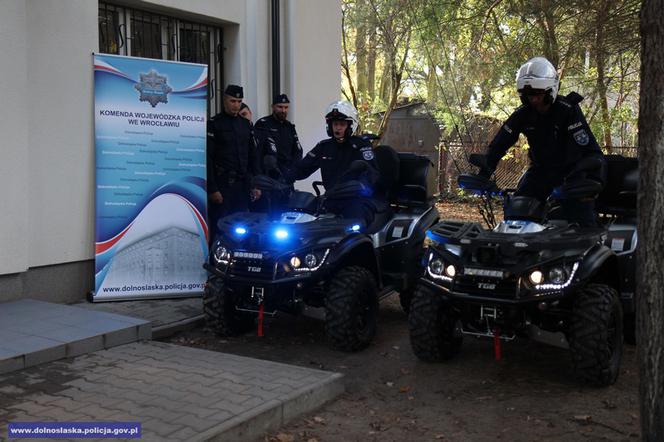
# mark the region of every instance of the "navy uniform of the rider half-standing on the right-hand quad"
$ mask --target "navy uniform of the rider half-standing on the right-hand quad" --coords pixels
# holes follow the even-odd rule
[[[516,195],[545,201],[555,187],[583,158],[603,157],[573,92],[558,97],[545,114],[529,106],[519,107],[500,128],[487,149],[487,165],[495,170],[507,150],[524,134],[528,139],[530,167],[519,181]],[[600,176],[597,177],[601,180]],[[564,217],[584,226],[595,224],[594,203],[563,201]]]

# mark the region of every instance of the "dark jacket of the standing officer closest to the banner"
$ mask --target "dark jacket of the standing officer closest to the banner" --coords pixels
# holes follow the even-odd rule
[[[258,149],[251,123],[225,112],[208,121],[208,193],[236,182],[249,183],[260,173]]]

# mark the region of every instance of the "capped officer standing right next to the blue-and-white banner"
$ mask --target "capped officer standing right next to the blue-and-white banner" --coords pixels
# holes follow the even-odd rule
[[[243,91],[229,84],[224,91],[224,110],[208,121],[207,191],[211,239],[219,233],[220,218],[249,210],[249,201],[260,198],[250,189],[251,177],[260,173],[258,148],[251,123],[238,115]]]

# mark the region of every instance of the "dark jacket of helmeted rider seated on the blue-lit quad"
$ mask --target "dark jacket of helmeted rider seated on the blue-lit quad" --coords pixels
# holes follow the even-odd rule
[[[367,170],[362,174],[361,180],[373,187],[379,177],[373,148],[369,142],[359,137],[348,137],[342,143],[334,138],[319,142],[288,171],[286,178],[289,181],[301,180],[320,169],[323,186],[330,190],[346,179],[357,179],[344,177],[351,163],[356,160],[367,163]]]

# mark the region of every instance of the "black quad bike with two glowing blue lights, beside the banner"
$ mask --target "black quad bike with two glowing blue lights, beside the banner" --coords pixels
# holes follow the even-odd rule
[[[254,185],[264,195],[288,194],[288,207],[220,220],[223,234],[205,266],[203,305],[210,328],[232,336],[258,321],[261,335],[264,315],[304,313],[324,319],[334,348],[355,351],[376,333],[380,299],[398,291],[408,306],[423,271],[425,233],[438,221],[435,173],[428,158],[397,154],[388,146],[378,146],[375,156],[382,177],[378,190],[388,204],[365,227],[326,211],[327,201],[366,194],[359,181],[324,195],[321,183],[314,183],[314,196],[257,177]]]

